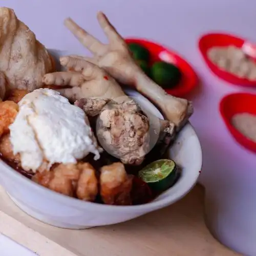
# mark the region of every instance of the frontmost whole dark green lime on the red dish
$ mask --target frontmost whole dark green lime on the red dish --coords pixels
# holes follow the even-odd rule
[[[151,68],[152,79],[162,88],[175,87],[181,80],[181,71],[173,64],[157,61]]]

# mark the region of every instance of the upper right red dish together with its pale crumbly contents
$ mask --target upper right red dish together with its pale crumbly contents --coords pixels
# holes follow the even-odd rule
[[[245,39],[209,33],[200,38],[199,50],[209,69],[221,79],[240,86],[256,85],[255,54]]]

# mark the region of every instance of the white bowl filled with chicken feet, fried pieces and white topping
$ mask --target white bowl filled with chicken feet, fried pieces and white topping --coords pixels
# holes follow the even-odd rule
[[[185,196],[202,166],[191,102],[148,82],[102,13],[111,47],[72,19],[65,23],[100,53],[98,63],[47,50],[13,10],[0,8],[2,27],[13,20],[19,33],[12,42],[23,44],[17,52],[11,43],[9,65],[0,68],[0,183],[13,202],[42,222],[82,229],[131,220]]]

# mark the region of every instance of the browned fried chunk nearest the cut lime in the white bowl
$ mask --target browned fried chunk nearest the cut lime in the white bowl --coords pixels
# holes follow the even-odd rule
[[[133,178],[126,174],[122,163],[105,165],[100,169],[100,195],[105,204],[131,205]]]

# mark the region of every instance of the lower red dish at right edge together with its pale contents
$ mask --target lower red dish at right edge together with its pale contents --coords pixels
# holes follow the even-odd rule
[[[242,146],[256,152],[256,94],[233,93],[220,102],[221,116],[228,131]]]

